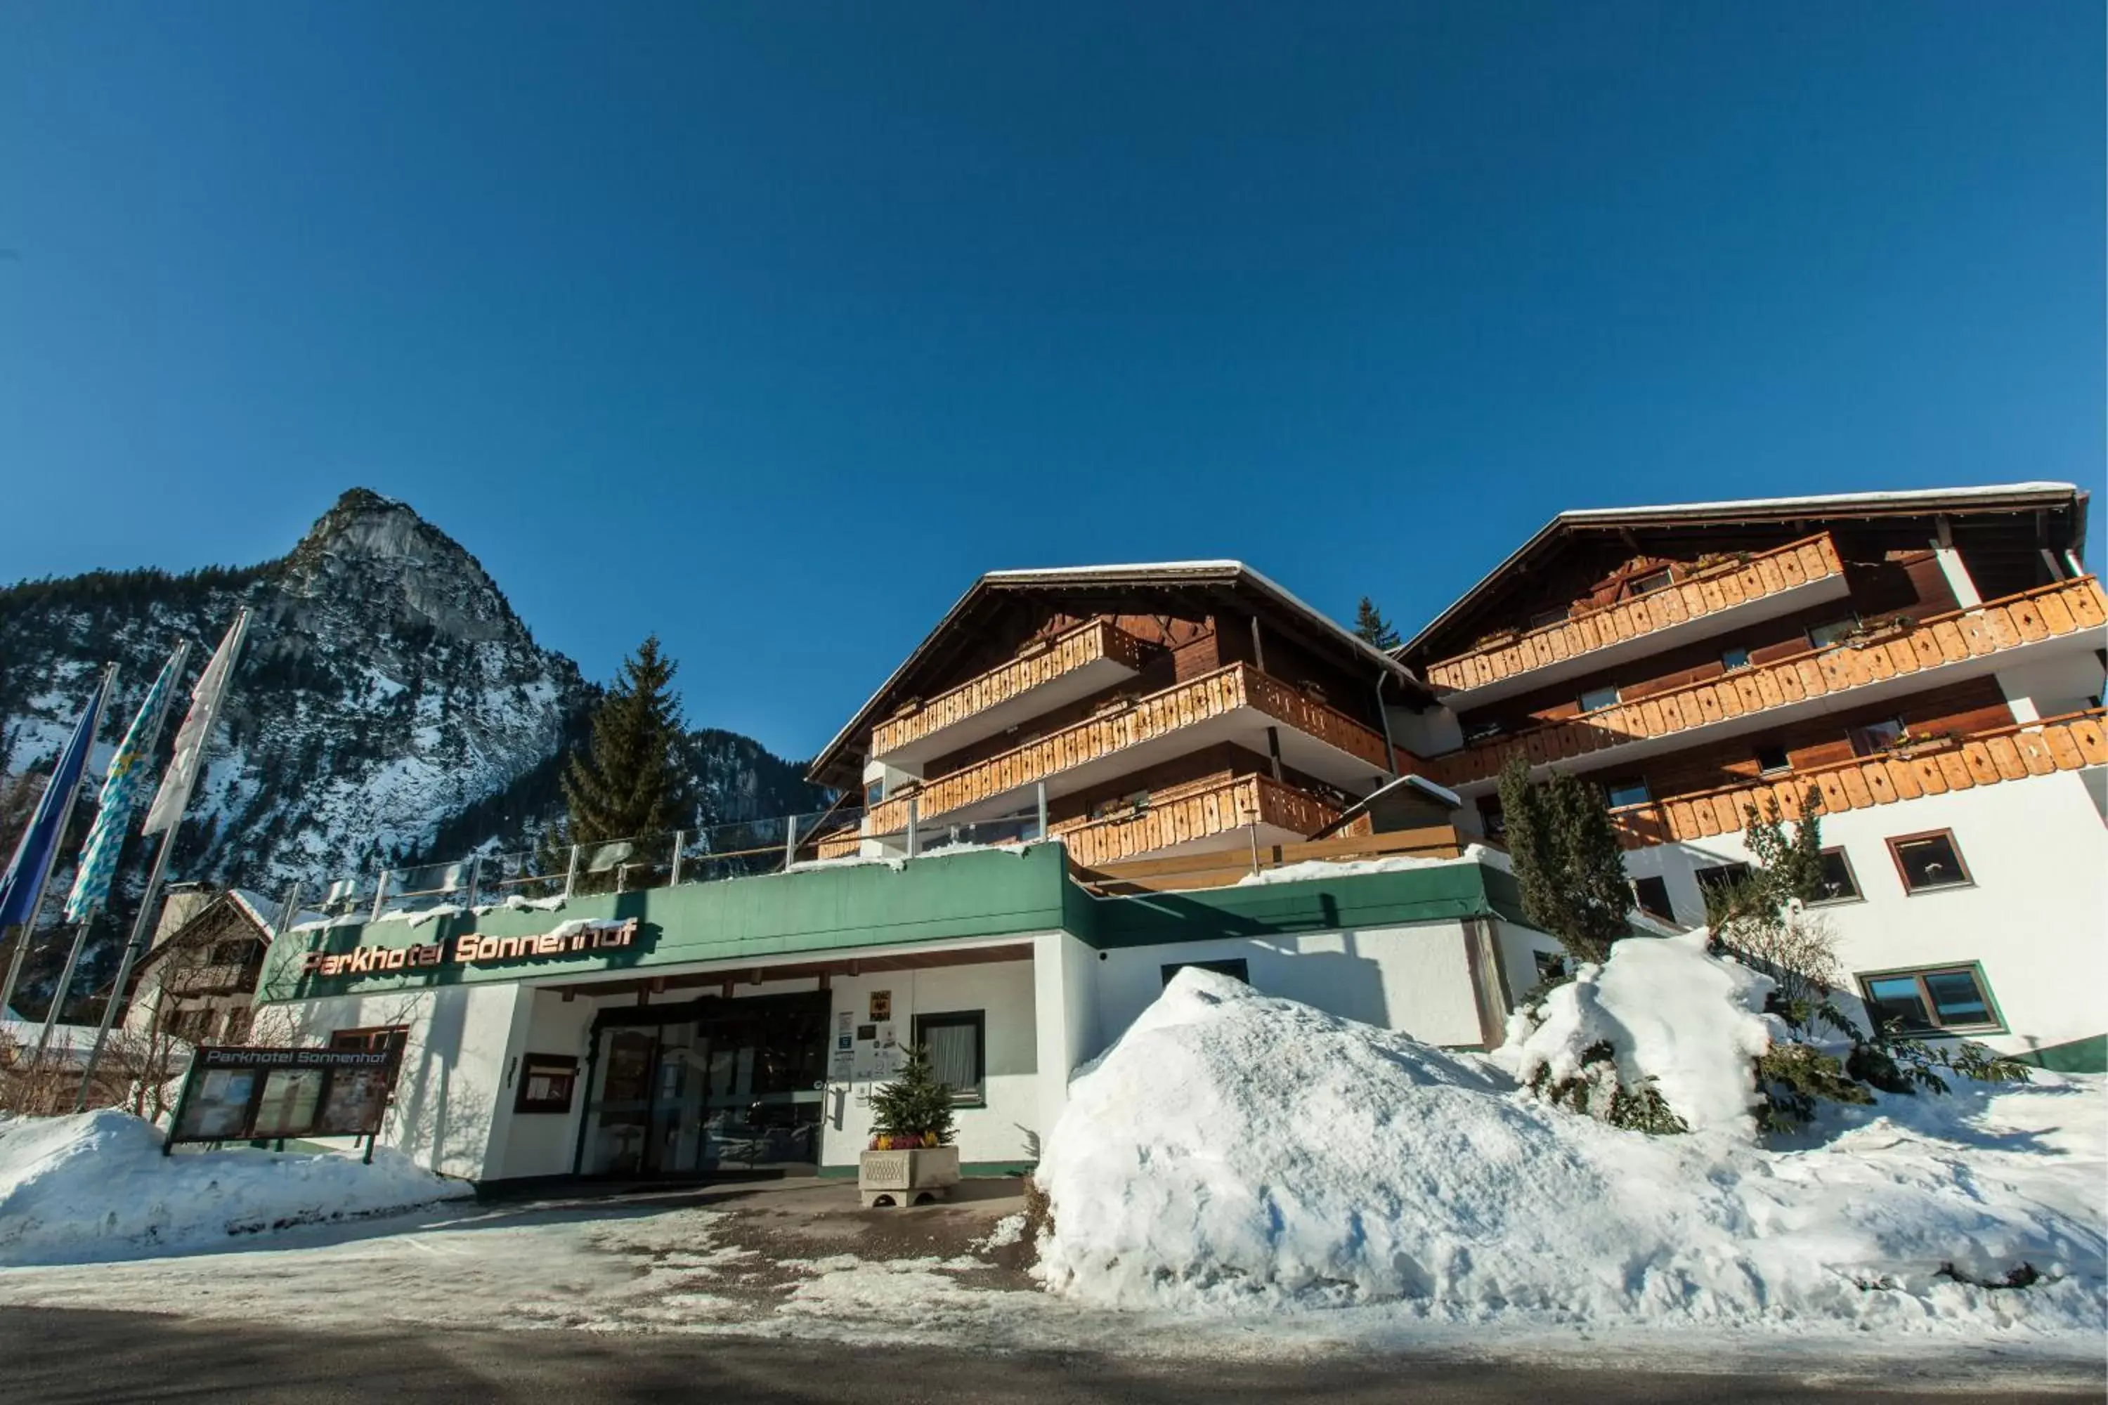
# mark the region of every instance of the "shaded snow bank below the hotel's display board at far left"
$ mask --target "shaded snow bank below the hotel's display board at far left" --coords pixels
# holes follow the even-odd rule
[[[160,1131],[105,1108],[0,1121],[0,1264],[118,1260],[230,1234],[379,1215],[472,1194],[394,1150],[160,1154]]]

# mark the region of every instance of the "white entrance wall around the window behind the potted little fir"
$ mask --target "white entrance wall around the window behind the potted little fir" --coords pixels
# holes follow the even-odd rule
[[[1039,1024],[1031,961],[989,961],[921,971],[839,975],[833,982],[835,1026],[847,1011],[852,1024],[873,1024],[871,992],[892,992],[892,1024],[904,1045],[915,1036],[915,1015],[982,1011],[987,1030],[987,1106],[959,1108],[955,1116],[959,1161],[1033,1161],[1039,1152]],[[879,1083],[828,1083],[822,1106],[820,1163],[852,1167],[871,1140],[871,1091]]]

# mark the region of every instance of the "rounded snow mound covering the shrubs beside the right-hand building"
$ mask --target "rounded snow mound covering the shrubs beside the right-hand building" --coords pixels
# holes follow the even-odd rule
[[[1492,1062],[1520,1083],[1541,1068],[1562,1083],[1581,1074],[1589,1047],[1606,1043],[1619,1083],[1653,1079],[1695,1131],[1754,1133],[1750,1060],[1771,1047],[1773,1020],[1762,1013],[1771,977],[1707,956],[1705,942],[1705,929],[1617,942],[1606,963],[1583,965],[1545,996],[1541,1024],[1524,1011],[1509,1015]]]

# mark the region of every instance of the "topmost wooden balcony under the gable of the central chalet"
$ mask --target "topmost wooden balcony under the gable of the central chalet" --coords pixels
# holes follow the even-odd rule
[[[1092,619],[938,693],[913,712],[885,718],[871,733],[871,756],[915,765],[993,737],[1020,718],[1132,678],[1143,668],[1145,651],[1143,640],[1126,630]]]

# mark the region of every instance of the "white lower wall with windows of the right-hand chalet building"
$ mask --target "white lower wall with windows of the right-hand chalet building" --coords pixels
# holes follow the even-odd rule
[[[2005,1053],[2108,1030],[2108,830],[2087,775],[2057,771],[1826,817],[1823,847],[1842,845],[1863,893],[1815,908],[1838,935],[1844,969],[1982,963],[2009,1030],[1982,1041]],[[1885,840],[1925,830],[1954,832],[1975,887],[1904,893]],[[1741,834],[1625,855],[1634,876],[1667,880],[1689,925],[1705,921],[1693,868],[1748,859]],[[1857,984],[1847,994],[1855,1003]]]

